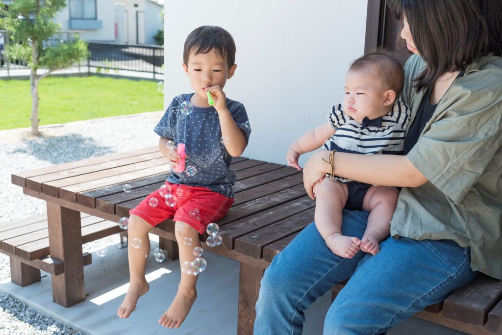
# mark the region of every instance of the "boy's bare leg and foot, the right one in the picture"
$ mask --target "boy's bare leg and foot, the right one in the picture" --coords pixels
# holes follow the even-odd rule
[[[193,249],[195,247],[200,247],[200,239],[199,233],[190,225],[182,221],[176,221],[176,224],[178,224],[178,222],[180,222],[183,226],[181,231],[175,231],[176,241],[178,242],[180,252],[181,266],[185,261],[190,263],[196,258],[193,254]],[[183,243],[183,239],[185,237],[192,239],[191,246],[186,246]],[[159,324],[168,328],[178,328],[181,325],[197,298],[195,284],[197,283],[198,277],[198,275],[189,275],[181,271],[181,280],[178,286],[178,292],[176,293],[173,302],[171,302],[171,306],[169,306],[165,313],[160,317],[158,321]]]

